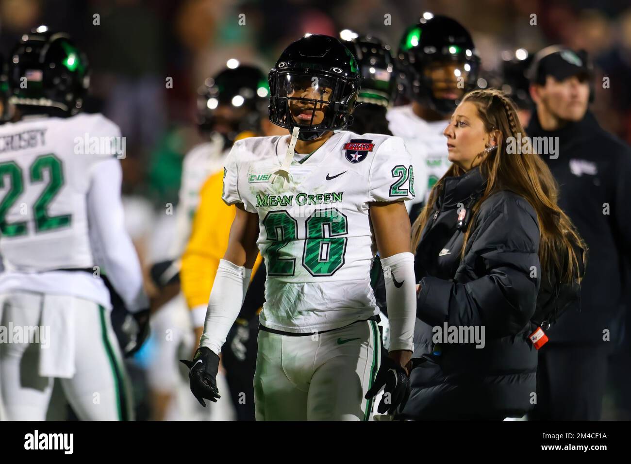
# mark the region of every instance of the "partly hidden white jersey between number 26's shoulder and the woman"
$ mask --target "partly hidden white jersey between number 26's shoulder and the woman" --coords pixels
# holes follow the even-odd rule
[[[449,121],[427,122],[414,114],[411,104],[389,109],[386,118],[392,134],[405,141],[412,156],[416,199],[408,202],[409,209],[427,201],[433,185],[451,166],[447,138],[442,134]]]

